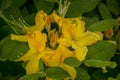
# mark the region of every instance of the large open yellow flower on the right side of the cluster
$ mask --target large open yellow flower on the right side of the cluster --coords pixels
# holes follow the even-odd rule
[[[62,23],[62,36],[58,39],[58,43],[75,49],[74,55],[79,60],[85,59],[87,54],[87,46],[96,43],[103,37],[100,32],[85,32],[85,23],[78,18],[74,20],[66,20]]]

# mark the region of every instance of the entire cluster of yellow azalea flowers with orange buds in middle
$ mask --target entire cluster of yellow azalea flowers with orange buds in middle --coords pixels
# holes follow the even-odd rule
[[[25,35],[11,34],[12,40],[28,42],[29,51],[18,61],[28,61],[27,74],[37,73],[40,59],[47,67],[59,66],[70,74],[72,80],[76,77],[74,67],[64,63],[67,57],[85,60],[87,46],[102,40],[102,33],[85,29],[85,22],[80,18],[63,18],[53,12],[47,15],[39,11],[35,17],[35,25],[25,27]],[[46,78],[49,79],[49,78]]]

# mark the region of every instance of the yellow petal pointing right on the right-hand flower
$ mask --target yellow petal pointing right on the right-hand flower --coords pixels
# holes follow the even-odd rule
[[[77,40],[76,44],[78,45],[92,45],[93,43],[96,43],[98,40],[101,40],[102,38],[102,33],[95,33],[95,32],[90,32],[87,31],[83,33]]]

